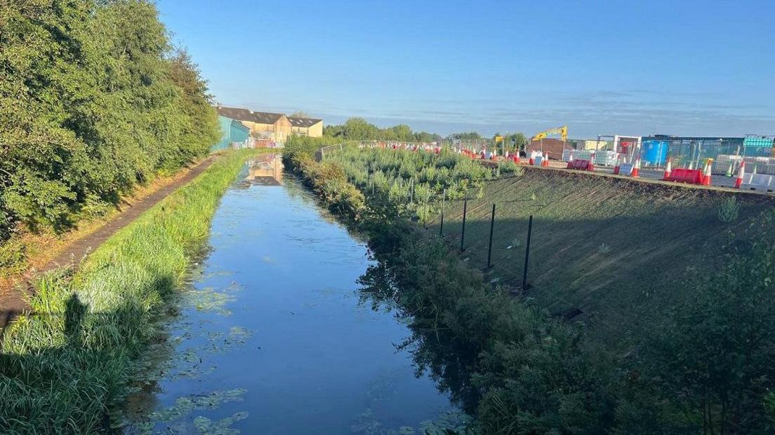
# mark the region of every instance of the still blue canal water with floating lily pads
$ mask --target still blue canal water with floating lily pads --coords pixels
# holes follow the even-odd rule
[[[463,416],[363,301],[367,246],[279,156],[246,165],[136,375],[125,433],[409,434]],[[377,309],[373,309],[377,307]],[[432,430],[431,430],[432,431]]]

